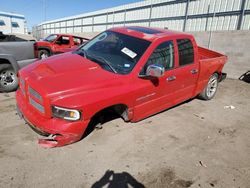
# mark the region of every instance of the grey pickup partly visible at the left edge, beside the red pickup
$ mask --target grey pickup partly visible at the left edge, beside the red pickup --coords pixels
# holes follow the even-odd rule
[[[0,42],[0,92],[16,90],[17,72],[34,61],[34,42]]]

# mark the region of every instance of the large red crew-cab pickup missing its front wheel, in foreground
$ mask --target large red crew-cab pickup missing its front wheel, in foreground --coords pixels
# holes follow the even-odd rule
[[[80,140],[105,109],[137,122],[196,96],[212,99],[226,60],[189,34],[113,28],[77,51],[20,70],[18,112],[48,136],[42,146],[63,146]]]

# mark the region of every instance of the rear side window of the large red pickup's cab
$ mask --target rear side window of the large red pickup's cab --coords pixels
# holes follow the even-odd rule
[[[194,48],[189,39],[177,40],[179,50],[179,65],[188,65],[194,63]]]

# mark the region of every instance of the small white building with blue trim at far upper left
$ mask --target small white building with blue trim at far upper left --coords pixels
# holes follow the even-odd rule
[[[4,34],[27,34],[27,26],[24,15],[0,12],[0,31]]]

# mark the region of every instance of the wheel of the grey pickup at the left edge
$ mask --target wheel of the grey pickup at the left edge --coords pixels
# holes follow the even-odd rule
[[[10,64],[0,65],[0,91],[11,92],[18,87],[18,78]]]

